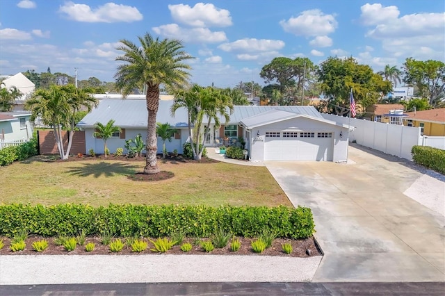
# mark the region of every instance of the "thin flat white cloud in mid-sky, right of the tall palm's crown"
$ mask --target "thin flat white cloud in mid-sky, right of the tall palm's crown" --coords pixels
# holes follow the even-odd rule
[[[223,51],[238,51],[238,52],[261,52],[261,51],[276,51],[284,47],[282,40],[268,40],[245,38],[234,42],[224,43],[218,46]]]

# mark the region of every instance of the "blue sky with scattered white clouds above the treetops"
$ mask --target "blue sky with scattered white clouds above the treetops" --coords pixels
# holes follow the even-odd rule
[[[120,39],[177,38],[195,56],[191,81],[256,81],[277,56],[353,56],[380,71],[407,57],[445,58],[440,0],[3,0],[0,74],[26,69],[113,81]]]

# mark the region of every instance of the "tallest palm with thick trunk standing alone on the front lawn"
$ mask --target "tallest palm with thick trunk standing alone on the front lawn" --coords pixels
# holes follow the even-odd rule
[[[135,88],[147,88],[145,100],[147,101],[147,156],[144,173],[157,174],[160,172],[156,164],[157,138],[156,114],[159,108],[159,85],[164,84],[173,88],[186,83],[187,69],[190,65],[185,60],[193,58],[186,51],[179,40],[159,40],[146,33],[138,37],[140,46],[129,40],[122,39],[122,45],[117,49],[123,51],[122,56],[116,60],[124,62],[118,66],[115,74],[116,87],[122,90],[126,97]]]

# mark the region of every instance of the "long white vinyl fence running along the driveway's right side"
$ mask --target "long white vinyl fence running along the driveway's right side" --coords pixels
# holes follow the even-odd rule
[[[412,160],[411,148],[414,145],[425,144],[421,136],[421,128],[371,122],[369,120],[357,120],[332,114],[322,114],[326,120],[332,120],[341,124],[350,124],[354,127],[349,133],[349,141],[369,147],[386,154]],[[433,137],[428,137],[433,138]],[[443,137],[439,137],[442,138]]]

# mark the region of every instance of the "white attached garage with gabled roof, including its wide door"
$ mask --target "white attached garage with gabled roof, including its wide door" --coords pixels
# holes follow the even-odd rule
[[[250,161],[345,161],[349,126],[304,112],[277,109],[241,120]]]

